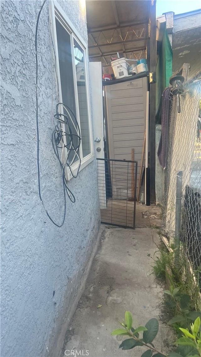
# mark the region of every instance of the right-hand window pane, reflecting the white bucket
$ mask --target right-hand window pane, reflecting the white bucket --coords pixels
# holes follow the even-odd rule
[[[75,56],[76,76],[77,76],[80,131],[82,137],[82,152],[83,152],[83,157],[85,157],[90,154],[90,141],[89,141],[87,93],[86,93],[85,70],[84,70],[84,51],[75,40],[74,40],[74,56]]]

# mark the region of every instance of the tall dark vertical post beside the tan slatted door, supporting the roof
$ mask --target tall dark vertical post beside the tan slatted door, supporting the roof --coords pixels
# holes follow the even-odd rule
[[[150,5],[150,72],[156,72],[156,0]],[[156,84],[150,84],[149,152],[150,152],[150,202],[156,202],[155,151],[156,151]]]

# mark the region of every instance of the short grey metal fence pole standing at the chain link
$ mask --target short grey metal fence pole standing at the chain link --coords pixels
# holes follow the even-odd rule
[[[175,261],[179,258],[180,232],[181,232],[181,198],[182,198],[183,171],[177,171],[176,183],[176,212],[175,212]]]

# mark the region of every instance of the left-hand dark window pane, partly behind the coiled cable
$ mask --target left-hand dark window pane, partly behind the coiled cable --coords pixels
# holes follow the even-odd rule
[[[58,44],[58,54],[59,54],[59,69],[60,69],[60,80],[62,87],[62,101],[66,104],[74,113],[76,117],[76,107],[75,107],[75,94],[74,94],[74,81],[73,81],[73,63],[72,63],[72,53],[70,46],[70,35],[64,29],[64,27],[56,19],[56,29],[57,29],[57,44]],[[63,108],[64,114],[67,114]],[[71,113],[70,113],[71,114]],[[72,116],[75,127],[77,127],[74,117]],[[72,134],[77,134],[73,124],[70,125]],[[69,133],[68,127],[66,126],[65,131]],[[66,137],[67,145],[70,147],[69,137]],[[78,137],[73,136],[74,147],[78,146]],[[69,154],[69,164],[78,160],[77,155],[74,157],[74,150],[68,150]]]

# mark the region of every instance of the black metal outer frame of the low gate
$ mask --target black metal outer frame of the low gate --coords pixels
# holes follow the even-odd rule
[[[116,224],[116,223],[108,223],[108,222],[104,222],[104,221],[100,221],[101,223],[104,223],[104,224],[109,224],[111,226],[116,226],[116,227],[122,227],[122,228],[132,228],[134,229],[135,228],[135,223],[136,223],[136,188],[137,188],[137,164],[138,162],[137,161],[132,161],[132,160],[116,160],[116,159],[100,159],[97,157],[97,164],[98,164],[98,161],[104,161],[105,162],[105,168],[106,168],[106,163],[108,164],[109,162],[126,162],[127,164],[133,164],[134,165],[134,198],[133,198],[133,201],[134,201],[134,211],[133,211],[133,227],[129,227],[127,225],[119,225],[119,224]],[[98,166],[98,165],[97,165]],[[110,170],[110,167],[109,165],[107,165],[109,170]],[[127,165],[127,168],[128,168],[128,165]],[[106,173],[106,169],[105,169],[105,173]],[[97,169],[97,175],[98,175],[98,169]],[[128,200],[127,200],[128,201]]]

